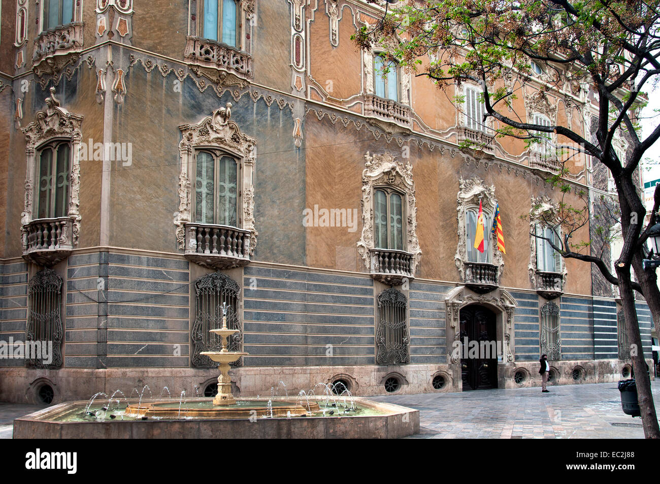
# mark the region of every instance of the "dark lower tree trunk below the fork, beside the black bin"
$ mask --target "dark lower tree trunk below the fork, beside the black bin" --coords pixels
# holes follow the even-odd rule
[[[653,396],[651,396],[651,380],[646,372],[642,336],[640,335],[635,298],[630,284],[630,266],[618,267],[617,265],[616,273],[618,275],[626,333],[628,333],[628,343],[630,343],[630,357],[632,367],[635,370],[637,399],[640,403],[640,413],[642,413],[644,436],[646,438],[660,438],[660,428],[658,427],[655,405],[653,405]]]

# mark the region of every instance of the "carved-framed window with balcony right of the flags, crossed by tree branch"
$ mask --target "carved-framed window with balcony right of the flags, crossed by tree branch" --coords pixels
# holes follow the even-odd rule
[[[532,208],[529,211],[529,280],[537,293],[547,299],[553,299],[564,293],[566,285],[566,263],[552,249],[548,240],[535,234],[552,238],[556,246],[560,246],[560,227],[558,223],[558,204],[546,197],[532,197]],[[554,228],[553,228],[554,227]]]

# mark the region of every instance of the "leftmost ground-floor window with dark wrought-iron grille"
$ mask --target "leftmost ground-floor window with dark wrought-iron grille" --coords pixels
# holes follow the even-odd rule
[[[32,368],[62,365],[62,278],[52,269],[39,271],[28,284],[25,364]]]

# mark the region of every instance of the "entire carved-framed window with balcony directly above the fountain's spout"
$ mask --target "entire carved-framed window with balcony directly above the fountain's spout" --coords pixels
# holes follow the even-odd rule
[[[214,269],[248,264],[257,245],[252,184],[257,141],[230,121],[231,108],[227,103],[199,123],[179,126],[176,238],[187,259]]]

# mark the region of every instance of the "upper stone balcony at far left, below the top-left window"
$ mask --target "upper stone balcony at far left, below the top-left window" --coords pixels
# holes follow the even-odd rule
[[[82,50],[83,22],[50,28],[34,41],[32,69],[37,75],[59,72],[68,63],[75,62]]]

